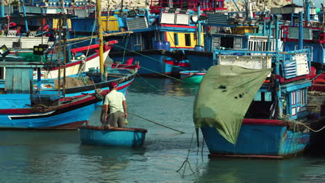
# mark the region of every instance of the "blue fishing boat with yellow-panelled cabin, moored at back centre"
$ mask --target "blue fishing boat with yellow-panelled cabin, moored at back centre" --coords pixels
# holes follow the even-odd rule
[[[111,37],[120,44],[110,57],[121,63],[133,57],[140,62],[142,76],[179,75],[190,70],[184,51],[202,48],[200,12],[225,10],[224,1],[151,0],[150,4],[150,10],[118,10],[119,26],[133,34]]]

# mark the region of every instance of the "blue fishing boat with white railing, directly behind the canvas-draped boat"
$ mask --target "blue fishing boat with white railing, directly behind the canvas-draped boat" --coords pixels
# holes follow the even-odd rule
[[[275,51],[275,42],[279,50],[281,40],[274,37],[275,24],[270,21],[267,12],[253,12],[252,1],[246,2],[246,11],[242,12],[210,12],[204,11],[199,22],[203,26],[204,44],[194,50],[186,50],[193,70],[208,70],[211,66],[219,64],[213,58],[213,49],[249,50],[249,51]],[[234,2],[235,3],[235,2]],[[238,55],[240,55],[238,53]]]

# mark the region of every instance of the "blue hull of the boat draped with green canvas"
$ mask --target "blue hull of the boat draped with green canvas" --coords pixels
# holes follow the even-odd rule
[[[210,157],[282,159],[303,152],[310,139],[309,131],[294,132],[277,120],[244,120],[235,145],[226,141],[215,128],[201,128],[201,131]]]

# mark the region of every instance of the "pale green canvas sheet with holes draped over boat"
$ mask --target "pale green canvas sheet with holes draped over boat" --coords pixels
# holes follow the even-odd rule
[[[235,144],[249,105],[270,71],[235,65],[210,67],[194,101],[195,128],[214,127]]]

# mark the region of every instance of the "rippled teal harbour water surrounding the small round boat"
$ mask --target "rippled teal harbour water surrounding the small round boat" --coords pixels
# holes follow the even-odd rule
[[[78,131],[0,131],[0,182],[325,182],[325,153],[285,160],[208,159],[194,134],[197,86],[135,78],[126,95],[128,127],[148,130],[141,148],[86,146]],[[100,125],[98,108],[90,125]],[[194,136],[193,136],[194,134]],[[321,154],[321,155],[319,155]],[[188,157],[181,171],[183,162]]]

